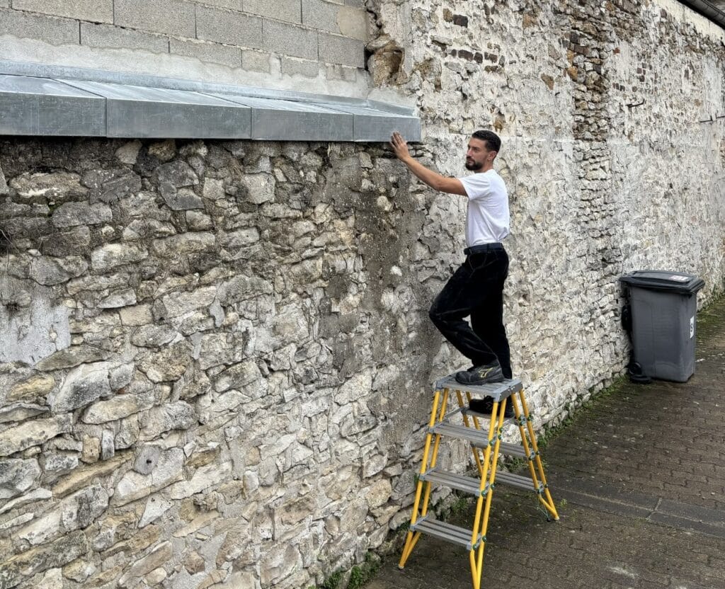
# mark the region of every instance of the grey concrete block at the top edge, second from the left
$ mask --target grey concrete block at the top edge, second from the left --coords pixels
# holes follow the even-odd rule
[[[115,0],[115,24],[122,27],[194,37],[194,4],[178,0]]]

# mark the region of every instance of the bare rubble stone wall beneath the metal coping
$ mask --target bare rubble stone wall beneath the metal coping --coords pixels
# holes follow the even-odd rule
[[[0,149],[0,587],[302,587],[379,545],[431,195],[365,146]]]

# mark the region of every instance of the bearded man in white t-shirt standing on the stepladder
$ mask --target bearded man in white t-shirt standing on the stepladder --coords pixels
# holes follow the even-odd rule
[[[508,255],[502,240],[509,234],[508,191],[493,168],[501,139],[492,131],[476,131],[468,141],[465,168],[471,176],[447,178],[416,162],[405,139],[393,133],[395,155],[431,188],[468,198],[463,250],[465,262],[455,271],[430,310],[441,333],[471,359],[473,366],[457,372],[462,384],[484,384],[511,378],[511,361],[503,325],[503,285]],[[471,316],[471,325],[464,321]],[[491,399],[474,400],[471,409],[490,412]],[[506,408],[506,416],[513,414]],[[487,410],[487,411],[486,411]]]

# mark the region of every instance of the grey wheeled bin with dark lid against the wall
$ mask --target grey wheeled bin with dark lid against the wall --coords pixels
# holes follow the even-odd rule
[[[634,361],[653,379],[686,382],[695,374],[697,291],[703,279],[642,270],[622,276],[631,305]]]

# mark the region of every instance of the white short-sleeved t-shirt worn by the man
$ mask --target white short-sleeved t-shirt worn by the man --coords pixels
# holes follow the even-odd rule
[[[468,194],[465,242],[468,247],[502,242],[509,233],[508,191],[496,170],[458,178]]]

